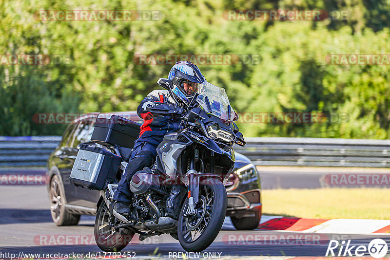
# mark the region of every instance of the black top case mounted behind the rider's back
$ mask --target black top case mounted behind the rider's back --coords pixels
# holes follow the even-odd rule
[[[97,118],[91,141],[103,146],[133,148],[141,125],[127,118],[112,115],[110,119]]]

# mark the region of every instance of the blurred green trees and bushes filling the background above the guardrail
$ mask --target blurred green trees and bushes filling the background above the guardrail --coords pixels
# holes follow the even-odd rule
[[[346,20],[226,20],[231,9],[348,10]],[[40,21],[37,10],[157,10],[146,21]],[[323,123],[241,123],[246,136],[389,138],[387,65],[331,65],[329,54],[390,54],[385,0],[0,0],[0,54],[68,57],[0,65],[0,135],[61,134],[36,113],[131,111],[172,65],[137,54],[249,54],[199,67],[244,112],[323,113]],[[347,115],[336,120],[337,115]],[[336,115],[336,117],[334,117]],[[333,118],[333,120],[330,120]]]

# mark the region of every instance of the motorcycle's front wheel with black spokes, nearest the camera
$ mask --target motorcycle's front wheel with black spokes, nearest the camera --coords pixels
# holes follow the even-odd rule
[[[177,235],[181,246],[188,252],[206,249],[216,238],[226,215],[227,194],[223,184],[216,179],[206,179],[199,185],[196,214],[184,217],[188,199],[179,216]]]

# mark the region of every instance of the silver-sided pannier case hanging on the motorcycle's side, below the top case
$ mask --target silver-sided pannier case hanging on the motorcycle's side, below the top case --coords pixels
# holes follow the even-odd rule
[[[70,182],[84,188],[102,190],[114,181],[121,157],[91,145],[81,145],[73,165]]]

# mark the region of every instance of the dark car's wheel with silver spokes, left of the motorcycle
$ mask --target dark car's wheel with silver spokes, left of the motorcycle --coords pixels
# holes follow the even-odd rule
[[[53,175],[50,181],[50,212],[54,223],[58,226],[77,225],[80,215],[69,213],[65,208],[64,191],[59,183],[57,175]]]

